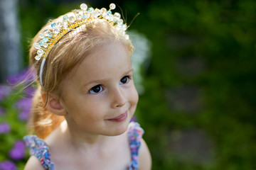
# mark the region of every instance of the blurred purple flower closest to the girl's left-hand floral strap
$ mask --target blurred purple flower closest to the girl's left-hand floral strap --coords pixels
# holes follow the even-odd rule
[[[25,157],[26,146],[21,140],[17,140],[14,147],[10,150],[9,156],[14,160],[21,160]]]

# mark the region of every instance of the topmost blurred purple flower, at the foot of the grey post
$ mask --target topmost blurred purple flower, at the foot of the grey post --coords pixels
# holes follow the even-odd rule
[[[10,84],[18,84],[21,81],[26,80],[27,83],[33,81],[36,77],[35,72],[31,72],[31,68],[24,69],[20,74],[11,76],[8,78]]]

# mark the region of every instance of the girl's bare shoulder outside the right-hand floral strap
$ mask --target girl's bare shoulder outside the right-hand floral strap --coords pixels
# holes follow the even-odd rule
[[[150,170],[151,169],[151,154],[146,142],[142,139],[141,147],[139,149],[139,170]]]

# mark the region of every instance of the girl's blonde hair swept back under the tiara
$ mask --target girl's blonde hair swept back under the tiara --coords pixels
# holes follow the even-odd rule
[[[68,13],[66,13],[68,14]],[[60,21],[56,18],[52,22]],[[42,60],[35,60],[37,50],[33,47],[34,42],[39,41],[39,33],[46,28],[50,28],[50,23],[46,24],[33,38],[31,49],[29,52],[30,64],[33,66],[37,74],[38,89],[33,97],[33,106],[31,118],[32,130],[36,132],[38,137],[46,138],[50,132],[57,128],[63,122],[63,116],[50,113],[43,102],[41,91],[57,94],[61,97],[61,82],[65,76],[90,55],[96,47],[104,45],[107,42],[118,41],[126,45],[129,52],[132,53],[133,46],[130,40],[127,40],[121,31],[117,30],[105,20],[97,19],[90,21],[70,33],[66,34],[57,42],[48,54],[46,64],[43,68],[42,81],[43,86],[39,83],[39,73]]]

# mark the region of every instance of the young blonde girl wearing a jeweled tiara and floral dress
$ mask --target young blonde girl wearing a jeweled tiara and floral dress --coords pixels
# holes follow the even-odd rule
[[[33,130],[24,137],[25,169],[151,169],[138,123],[132,43],[119,13],[87,8],[66,13],[33,39],[38,75]]]

